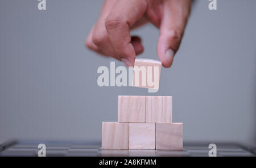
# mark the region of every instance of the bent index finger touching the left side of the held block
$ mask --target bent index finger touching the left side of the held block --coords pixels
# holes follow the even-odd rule
[[[127,66],[133,66],[136,53],[131,44],[130,28],[141,19],[147,9],[144,0],[119,0],[105,20],[110,43],[117,57]]]

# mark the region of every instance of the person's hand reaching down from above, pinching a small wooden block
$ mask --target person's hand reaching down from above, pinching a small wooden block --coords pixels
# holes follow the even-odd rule
[[[130,36],[130,30],[151,22],[159,28],[159,60],[168,68],[179,49],[190,10],[191,0],[106,0],[86,46],[133,66],[143,46],[139,37]]]

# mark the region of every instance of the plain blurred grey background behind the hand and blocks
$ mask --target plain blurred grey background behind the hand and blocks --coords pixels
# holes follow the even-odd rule
[[[256,1],[193,6],[183,43],[160,89],[97,86],[110,67],[84,46],[102,1],[0,1],[0,141],[101,140],[101,122],[117,121],[118,95],[172,95],[173,120],[184,141],[256,141]],[[157,59],[158,30],[133,32],[141,57]],[[123,65],[116,62],[116,66]]]

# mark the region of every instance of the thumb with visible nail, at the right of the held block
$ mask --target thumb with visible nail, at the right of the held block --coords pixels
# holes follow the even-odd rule
[[[174,60],[183,37],[190,12],[189,1],[166,1],[160,24],[158,39],[158,57],[165,68]]]

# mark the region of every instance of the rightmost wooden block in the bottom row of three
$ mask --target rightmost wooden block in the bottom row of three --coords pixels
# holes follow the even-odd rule
[[[183,150],[183,123],[156,123],[156,149]]]

